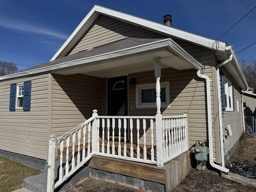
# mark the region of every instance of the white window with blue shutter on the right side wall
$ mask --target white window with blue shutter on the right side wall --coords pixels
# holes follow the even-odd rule
[[[234,85],[221,74],[222,84],[222,109],[225,111],[234,111]]]

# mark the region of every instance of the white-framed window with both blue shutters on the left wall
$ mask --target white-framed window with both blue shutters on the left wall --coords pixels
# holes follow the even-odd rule
[[[30,111],[31,97],[31,80],[24,81],[24,84],[17,85],[16,83],[10,86],[10,111],[23,109]]]

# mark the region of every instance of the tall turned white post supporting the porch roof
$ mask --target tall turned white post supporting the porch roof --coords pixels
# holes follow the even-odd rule
[[[160,77],[161,77],[161,58],[155,58],[155,77],[156,77],[156,165],[164,165],[163,154],[163,136],[162,136],[162,115],[161,115],[161,98],[160,98]]]

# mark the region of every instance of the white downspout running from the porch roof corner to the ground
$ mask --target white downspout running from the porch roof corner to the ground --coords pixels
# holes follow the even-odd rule
[[[209,140],[209,162],[210,165],[220,171],[228,173],[229,170],[215,164],[213,162],[213,146],[212,146],[212,108],[211,108],[211,96],[210,96],[210,78],[206,75],[201,74],[200,70],[196,73],[198,77],[204,78],[206,80],[206,103],[207,103],[207,122],[208,122],[208,140]]]

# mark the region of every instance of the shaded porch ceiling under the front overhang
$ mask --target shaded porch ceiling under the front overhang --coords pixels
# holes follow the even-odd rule
[[[188,62],[175,56],[166,48],[156,52],[143,53],[135,56],[124,56],[115,60],[103,60],[96,64],[81,64],[62,70],[52,71],[56,74],[71,75],[71,74],[87,74],[97,77],[111,77],[115,74],[128,74],[147,70],[154,70],[154,58],[161,58],[161,67],[172,67],[177,70],[192,69],[193,67]]]

